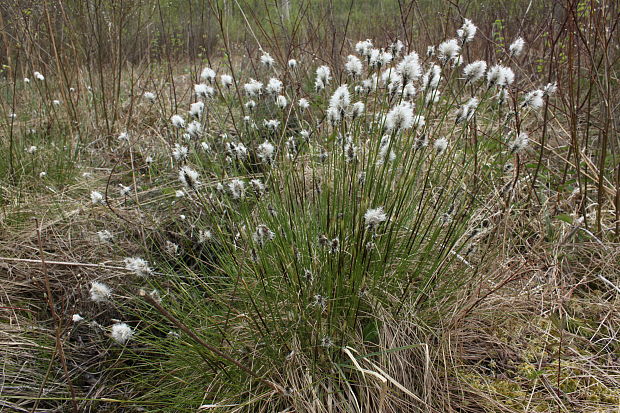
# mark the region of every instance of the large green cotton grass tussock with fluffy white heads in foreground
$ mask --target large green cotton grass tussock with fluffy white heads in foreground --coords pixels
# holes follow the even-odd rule
[[[440,380],[398,366],[430,368],[442,329],[459,322],[495,254],[525,130],[549,97],[521,104],[509,67],[464,61],[475,33],[466,21],[436,58],[366,40],[341,76],[266,52],[244,78],[202,69],[186,111],[162,120],[169,160],[148,166],[171,191],[143,213],[172,214],[149,229],[149,262],[126,259],[143,300],[119,305],[138,305],[140,327],[114,327],[144,401],[274,412],[443,403],[430,391]],[[406,337],[386,340],[398,324]]]

